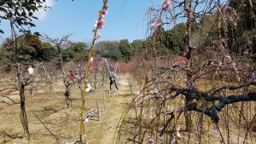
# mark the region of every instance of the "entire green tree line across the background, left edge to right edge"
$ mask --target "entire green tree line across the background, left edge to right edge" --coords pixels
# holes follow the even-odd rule
[[[1,6],[1,3],[0,3]],[[6,6],[2,3],[2,7]],[[236,12],[238,19],[230,20],[227,24],[229,29],[229,49],[230,53],[243,55],[243,53],[252,53],[254,58],[256,54],[256,37],[255,37],[255,14],[256,14],[256,0],[246,1],[230,1],[226,7],[226,13]],[[218,26],[218,21],[212,21],[215,17],[214,14],[205,15],[201,21],[193,20],[192,29],[192,41],[211,44],[214,39],[218,39],[218,33],[224,33],[224,27]],[[8,19],[8,17],[3,17]],[[214,20],[214,19],[213,19]],[[208,27],[207,23],[216,23],[213,27]],[[236,23],[234,27],[233,23]],[[179,23],[173,26],[171,29],[165,30],[160,28],[154,34],[159,35],[156,39],[156,48],[154,49],[154,56],[170,56],[171,54],[183,55],[187,45],[185,45],[185,23]],[[204,29],[204,30],[202,30]],[[205,36],[203,33],[213,29],[209,36]],[[242,33],[242,34],[241,34]],[[154,36],[153,34],[153,36]],[[254,37],[253,37],[254,34]],[[249,37],[248,37],[249,36]],[[201,38],[201,40],[199,40]],[[250,38],[250,39],[248,39]],[[55,45],[41,39],[44,39],[38,34],[32,34],[30,32],[24,32],[18,37],[18,60],[30,61],[30,60],[52,60],[58,54],[58,49]],[[209,41],[211,39],[211,41]],[[252,48],[248,48],[247,42],[253,43]],[[11,48],[11,38],[6,38],[1,44],[0,49],[0,64],[7,65],[12,62],[13,50]],[[118,61],[128,62],[132,56],[147,55],[148,46],[152,43],[152,37],[147,37],[144,40],[134,40],[129,43],[127,39],[121,39],[120,41],[102,41],[96,43],[95,55],[96,58],[109,58]],[[192,42],[193,43],[193,42]],[[197,43],[193,43],[196,45]],[[88,56],[89,43],[71,42],[67,41],[64,44],[61,55],[64,61],[69,60],[86,60]],[[249,50],[249,51],[248,51]]]

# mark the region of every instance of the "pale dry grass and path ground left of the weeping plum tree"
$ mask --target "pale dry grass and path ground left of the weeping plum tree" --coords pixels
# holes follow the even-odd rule
[[[87,93],[85,112],[96,108],[96,100],[100,102],[100,108],[104,108],[103,95],[105,95],[105,110],[98,121],[97,117],[90,118],[85,124],[85,133],[89,143],[111,143],[113,133],[119,121],[121,113],[127,107],[126,101],[131,99],[130,88],[127,86],[127,76],[119,85],[119,91],[112,94],[108,101],[108,84],[94,92]],[[56,82],[55,89],[49,87],[38,89],[32,95],[26,92],[26,114],[30,130],[30,143],[61,143],[63,141],[74,141],[79,138],[79,115],[81,95],[78,86],[72,88],[72,108],[66,108],[64,86],[61,81]],[[9,98],[19,101],[18,92],[8,95]],[[1,101],[12,104],[12,101],[1,96]],[[0,143],[28,143],[20,124],[20,105],[9,106],[0,103]],[[51,131],[47,130],[39,119]]]

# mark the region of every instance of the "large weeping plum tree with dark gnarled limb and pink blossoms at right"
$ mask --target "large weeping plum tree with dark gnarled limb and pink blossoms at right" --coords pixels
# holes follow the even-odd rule
[[[193,137],[193,140],[203,143],[202,131],[208,123],[213,132],[218,132],[221,141],[229,143],[230,128],[221,127],[230,123],[236,124],[241,118],[247,124],[247,133],[243,135],[244,140],[247,139],[250,124],[256,114],[245,110],[248,106],[255,107],[255,103],[250,102],[256,101],[255,82],[250,79],[255,65],[249,62],[253,56],[235,55],[229,49],[233,43],[230,43],[227,37],[230,32],[227,24],[230,20],[236,21],[238,17],[233,9],[229,12],[224,9],[227,4],[229,2],[166,0],[160,7],[154,5],[148,10],[148,15],[152,18],[148,20],[152,24],[148,30],[152,32],[148,33],[152,37],[149,47],[145,50],[147,58],[143,59],[147,66],[141,64],[137,68],[144,73],[143,89],[129,102],[130,107],[125,112],[135,105],[140,106],[137,119],[139,126],[135,130],[133,141],[177,143],[190,141]],[[210,28],[204,30],[204,18],[209,15],[212,23],[207,23]],[[184,45],[187,47],[184,48],[183,57],[186,62],[184,65],[167,65],[165,60],[154,57],[158,49],[157,38],[161,37],[158,30],[166,28],[166,24],[173,25],[177,22],[185,24]],[[236,22],[230,23],[230,26],[236,27]],[[195,29],[195,32],[192,32],[192,29]],[[212,33],[217,37],[212,37]],[[247,36],[250,37],[248,39],[253,37],[252,34]],[[249,43],[251,42],[249,40]],[[252,54],[252,43],[250,45],[247,50]],[[245,61],[249,62],[247,66],[244,65]],[[122,118],[125,119],[126,115]],[[124,129],[124,124],[124,120],[120,120],[119,130]],[[240,126],[236,129],[241,129],[241,121],[238,125]],[[179,126],[182,127],[181,130],[178,129]],[[186,131],[188,136],[184,138],[181,131]],[[227,132],[226,137],[222,131]],[[193,133],[195,135],[191,135]],[[119,133],[116,141],[119,141],[121,136]]]

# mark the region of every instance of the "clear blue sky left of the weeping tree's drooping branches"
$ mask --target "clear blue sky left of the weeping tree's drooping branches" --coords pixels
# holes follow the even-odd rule
[[[126,1],[126,2],[125,2]],[[92,30],[98,19],[97,12],[102,9],[102,0],[46,0],[51,9],[41,10],[34,20],[36,27],[32,32],[40,32],[49,37],[62,37],[73,33],[69,38],[75,42],[90,42]],[[104,18],[106,26],[98,32],[102,37],[97,41],[127,38],[131,43],[135,39],[143,39],[147,31],[145,9],[152,4],[161,4],[157,0],[108,0],[108,15]],[[9,23],[1,22],[0,42],[10,36]]]

